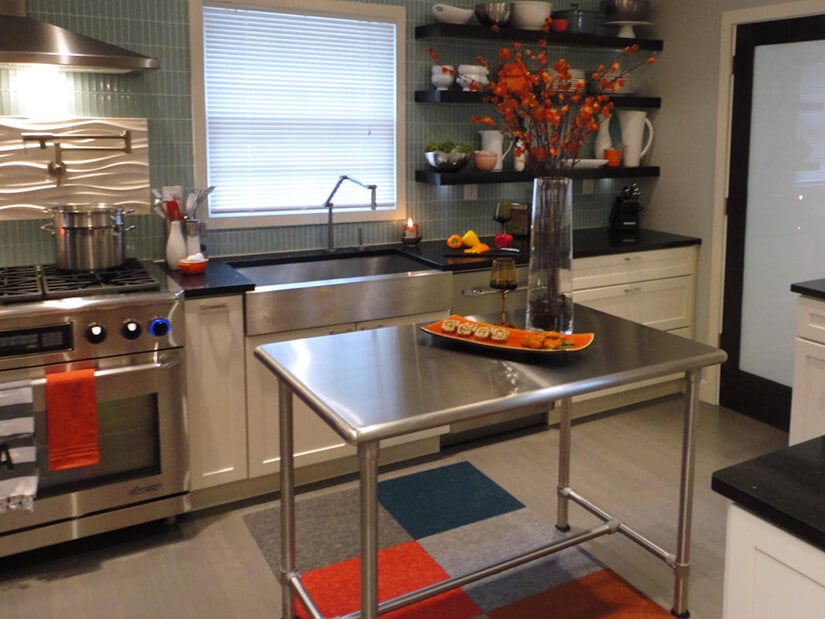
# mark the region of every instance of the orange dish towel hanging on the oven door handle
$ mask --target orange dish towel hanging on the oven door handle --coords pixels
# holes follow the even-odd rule
[[[49,470],[100,462],[94,370],[46,374]]]

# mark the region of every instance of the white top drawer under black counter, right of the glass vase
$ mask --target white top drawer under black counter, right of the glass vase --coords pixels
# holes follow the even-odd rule
[[[579,258],[573,262],[573,289],[584,290],[650,279],[693,275],[696,248],[674,247],[629,254]]]

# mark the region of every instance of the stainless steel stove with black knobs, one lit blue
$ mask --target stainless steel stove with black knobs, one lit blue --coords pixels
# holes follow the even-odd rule
[[[183,346],[182,299],[155,263],[0,268],[0,389],[31,390],[39,474],[33,510],[0,515],[0,556],[186,511]],[[90,368],[100,462],[49,470],[47,380]]]

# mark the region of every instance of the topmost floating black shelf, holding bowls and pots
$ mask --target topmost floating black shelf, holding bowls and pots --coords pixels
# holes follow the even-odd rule
[[[561,47],[603,47],[606,49],[624,49],[636,44],[639,49],[662,51],[664,43],[658,39],[625,39],[598,34],[581,34],[578,32],[543,32],[541,30],[520,30],[501,26],[498,31],[487,26],[468,26],[462,24],[444,24],[435,22],[415,27],[415,38],[427,37],[461,37],[466,39],[486,39],[490,41],[547,41],[547,45]]]

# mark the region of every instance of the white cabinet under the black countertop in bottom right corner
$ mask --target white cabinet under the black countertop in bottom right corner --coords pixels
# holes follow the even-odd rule
[[[811,619],[825,609],[825,553],[728,507],[724,619]]]

